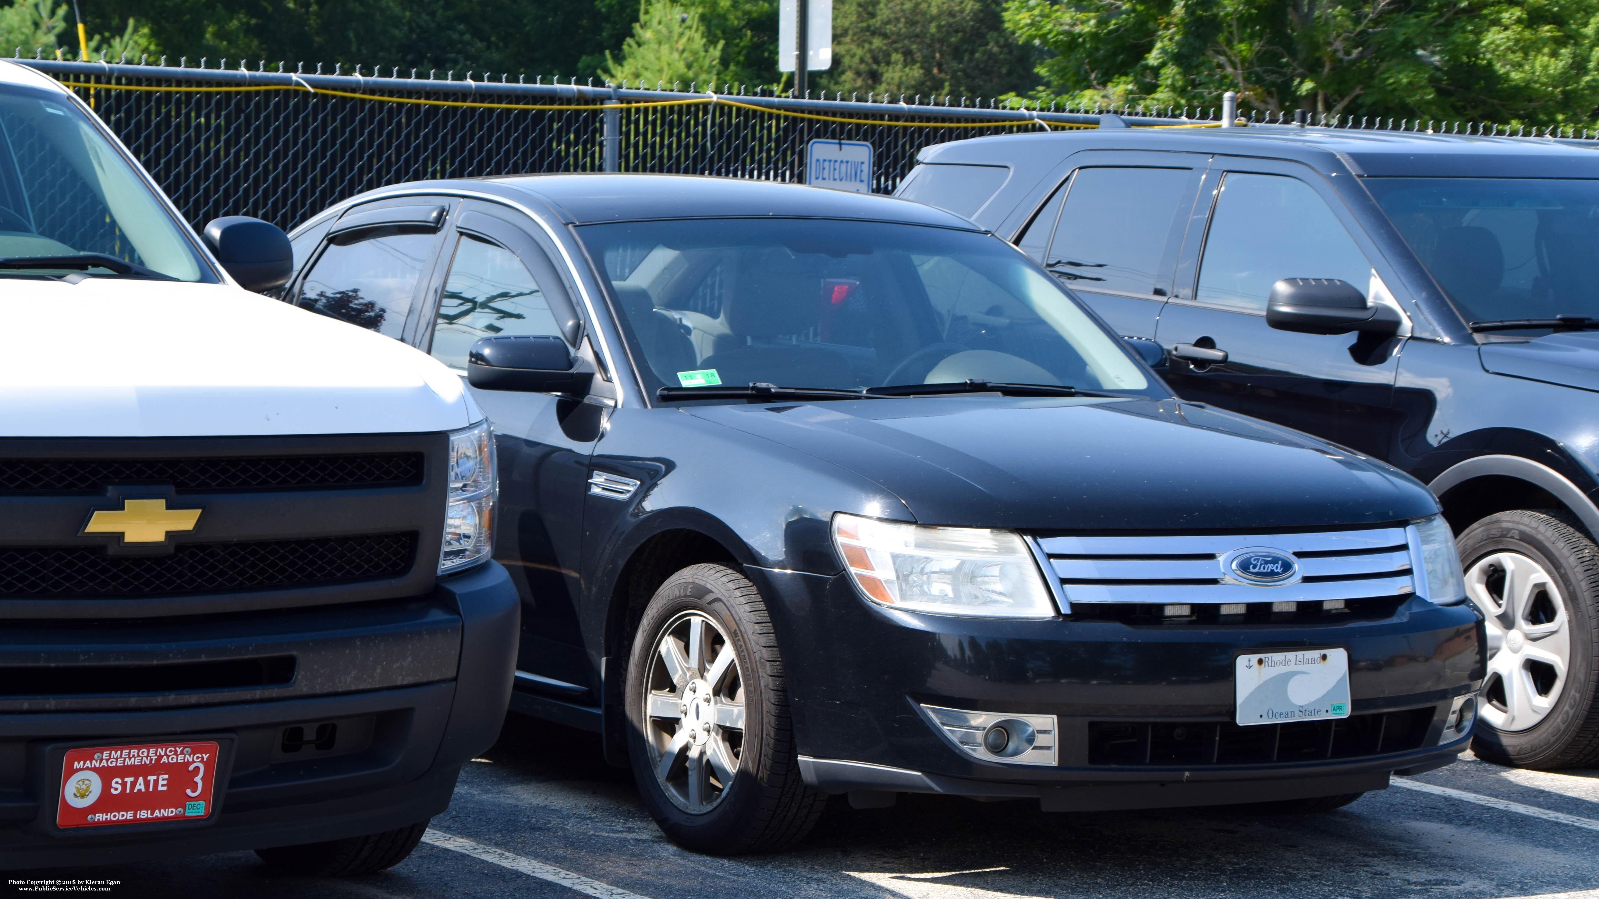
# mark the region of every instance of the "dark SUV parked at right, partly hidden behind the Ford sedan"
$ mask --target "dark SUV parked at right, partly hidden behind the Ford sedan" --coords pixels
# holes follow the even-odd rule
[[[923,150],[899,195],[1015,242],[1186,400],[1431,485],[1487,617],[1473,749],[1599,761],[1599,155],[1570,141],[1127,128]]]

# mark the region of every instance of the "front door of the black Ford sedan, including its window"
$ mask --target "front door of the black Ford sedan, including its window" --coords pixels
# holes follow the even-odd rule
[[[473,341],[488,336],[560,336],[585,358],[568,282],[534,234],[521,213],[467,200],[445,238],[417,346],[461,374]],[[521,593],[518,688],[593,705],[577,571],[588,457],[609,400],[469,390],[494,426],[499,453],[494,558]]]

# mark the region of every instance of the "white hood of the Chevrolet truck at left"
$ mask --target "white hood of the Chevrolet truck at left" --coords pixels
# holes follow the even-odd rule
[[[229,285],[0,280],[0,435],[393,434],[483,418],[400,341]]]

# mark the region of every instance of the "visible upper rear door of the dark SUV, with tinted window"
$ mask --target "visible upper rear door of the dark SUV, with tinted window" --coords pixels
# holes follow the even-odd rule
[[[1118,334],[1153,338],[1207,158],[1091,150],[1073,162],[1017,245]]]

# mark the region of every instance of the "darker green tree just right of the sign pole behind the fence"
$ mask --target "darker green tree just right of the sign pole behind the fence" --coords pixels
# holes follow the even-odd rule
[[[1003,0],[835,0],[827,90],[993,98],[1036,83]]]

